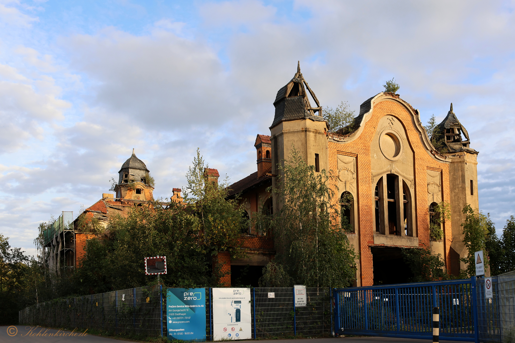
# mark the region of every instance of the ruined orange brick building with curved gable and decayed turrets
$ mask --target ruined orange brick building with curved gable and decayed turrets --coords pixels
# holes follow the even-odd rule
[[[269,135],[258,134],[254,142],[256,171],[230,186],[229,195],[239,194],[247,218],[256,212],[271,214],[278,210],[279,204],[267,188],[276,184],[276,166],[289,158],[295,146],[316,172],[325,169],[337,174],[337,182],[331,187],[337,190],[338,198],[351,199],[350,209],[342,213],[353,227],[348,238],[359,256],[356,285],[407,281],[410,272],[401,257],[402,247],[430,248],[434,254],[441,254],[452,274],[465,268],[459,261],[467,255],[461,241],[461,209],[466,204],[478,208],[478,152],[470,148],[469,135],[452,105],[438,125],[447,147],[445,153],[433,147],[418,110],[391,93],[379,93],[363,102],[350,133],[331,132],[300,67],[279,89],[273,105],[275,113],[273,118],[270,115]],[[219,176],[216,169],[207,172],[210,178]],[[85,210],[85,215],[98,219],[102,225],[113,213],[127,215],[131,207],[152,198],[153,187],[146,179],[148,169],[134,153],[118,174],[116,197],[103,194],[101,200]],[[174,189],[173,200],[180,199],[180,189]],[[451,204],[451,221],[441,225],[442,239],[432,239],[430,221],[435,206],[442,201]],[[89,233],[80,230],[74,234],[76,258],[69,257],[72,252],[56,252],[68,254],[70,262],[66,263],[80,261],[84,242],[89,238]],[[52,237],[46,244],[53,251],[61,251],[59,234],[49,236]],[[224,262],[223,270],[231,270],[223,281],[231,284],[231,280],[239,279],[256,286],[261,269],[276,254],[273,240],[256,234],[250,225],[242,232],[242,240],[248,253],[246,259],[231,260],[225,253],[218,256]],[[68,242],[68,246],[72,245]],[[248,272],[242,279],[244,268]]]

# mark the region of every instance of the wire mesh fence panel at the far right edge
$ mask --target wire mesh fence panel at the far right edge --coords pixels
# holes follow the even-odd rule
[[[499,326],[503,343],[515,342],[515,271],[497,276]]]

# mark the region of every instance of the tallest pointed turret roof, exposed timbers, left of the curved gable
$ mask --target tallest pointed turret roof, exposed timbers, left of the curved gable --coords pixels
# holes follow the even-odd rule
[[[316,107],[311,106],[306,88],[313,100],[315,100]],[[312,120],[324,121],[324,118],[321,116],[322,107],[320,102],[300,72],[300,61],[297,62],[297,73],[284,87],[279,89],[273,105],[276,107],[276,114],[270,128],[284,120],[310,118]],[[315,113],[318,113],[318,115]]]

